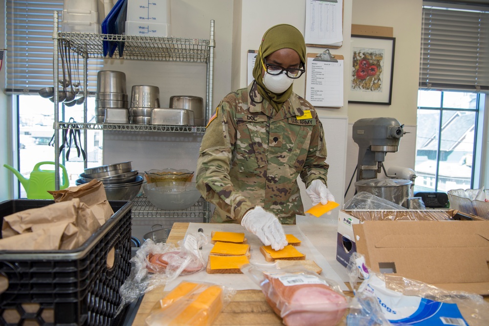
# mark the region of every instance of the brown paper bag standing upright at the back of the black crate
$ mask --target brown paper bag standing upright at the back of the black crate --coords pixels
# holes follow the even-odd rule
[[[56,203],[70,201],[73,198],[80,199],[82,203],[89,205],[101,225],[114,214],[111,204],[107,200],[104,184],[97,179],[75,187],[48,192],[53,195]]]

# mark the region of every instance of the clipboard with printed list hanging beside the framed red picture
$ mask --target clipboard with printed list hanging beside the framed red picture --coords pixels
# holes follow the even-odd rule
[[[344,57],[329,49],[306,56],[306,100],[317,107],[341,107],[344,94]]]

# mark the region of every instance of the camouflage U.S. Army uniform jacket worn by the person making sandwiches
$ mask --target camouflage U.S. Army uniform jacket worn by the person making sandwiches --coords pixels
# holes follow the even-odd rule
[[[314,107],[292,93],[279,112],[254,86],[228,94],[209,120],[200,145],[197,188],[216,205],[211,222],[241,223],[255,206],[282,224],[303,215],[297,176],[308,187],[326,183],[324,131]],[[262,102],[263,100],[263,102]],[[261,102],[261,103],[260,103]]]

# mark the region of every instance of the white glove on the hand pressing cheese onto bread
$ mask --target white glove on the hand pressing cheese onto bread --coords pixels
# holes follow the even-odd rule
[[[241,225],[256,235],[264,245],[271,245],[274,250],[281,250],[288,244],[284,228],[277,217],[260,206],[248,210]]]

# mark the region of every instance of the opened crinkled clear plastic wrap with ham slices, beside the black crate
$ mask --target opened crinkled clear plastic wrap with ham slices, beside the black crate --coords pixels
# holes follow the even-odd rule
[[[146,240],[131,259],[131,274],[120,287],[122,305],[119,310],[155,287],[175,280],[179,275],[205,269],[206,261],[199,248],[207,242],[202,232],[188,233],[178,245]]]

